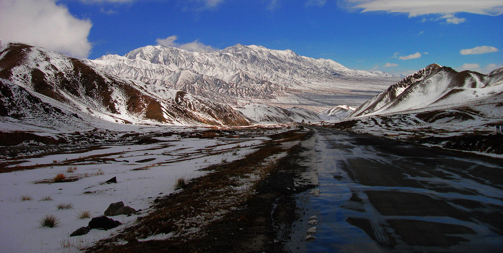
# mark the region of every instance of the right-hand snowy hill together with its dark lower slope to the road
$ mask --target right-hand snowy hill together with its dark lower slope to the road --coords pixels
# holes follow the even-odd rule
[[[501,124],[503,68],[483,75],[432,64],[331,127],[500,157]]]

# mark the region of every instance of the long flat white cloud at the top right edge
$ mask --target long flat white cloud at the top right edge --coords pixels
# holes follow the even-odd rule
[[[389,13],[406,13],[409,17],[428,14],[441,15],[450,24],[460,24],[466,19],[454,17],[453,14],[465,12],[480,15],[498,16],[503,14],[501,0],[344,0],[349,6],[363,9],[362,12],[384,11]],[[426,18],[423,19],[423,22]]]

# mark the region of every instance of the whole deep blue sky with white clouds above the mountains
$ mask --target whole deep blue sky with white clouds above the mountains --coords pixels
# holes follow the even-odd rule
[[[394,74],[487,73],[503,67],[502,13],[501,0],[0,0],[0,38],[90,59],[241,43]]]

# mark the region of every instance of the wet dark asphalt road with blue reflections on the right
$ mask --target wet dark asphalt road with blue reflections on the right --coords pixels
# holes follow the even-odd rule
[[[501,159],[324,128],[317,131],[318,222],[306,251],[496,252]]]

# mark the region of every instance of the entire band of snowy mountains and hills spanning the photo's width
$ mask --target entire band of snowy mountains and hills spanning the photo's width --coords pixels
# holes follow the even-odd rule
[[[240,44],[208,52],[147,46],[78,60],[0,40],[0,78],[0,116],[52,125],[96,118],[217,126],[341,120],[503,94],[503,69],[483,75],[432,64],[389,86],[397,78],[383,72]],[[363,104],[355,110],[335,101]]]

